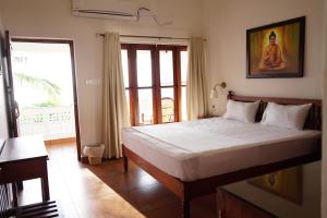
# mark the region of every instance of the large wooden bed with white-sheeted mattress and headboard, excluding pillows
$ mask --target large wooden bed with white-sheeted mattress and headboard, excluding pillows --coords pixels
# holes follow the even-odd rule
[[[190,217],[192,198],[217,186],[320,159],[320,100],[228,96],[256,101],[259,121],[268,101],[313,106],[304,131],[281,130],[222,118],[130,128],[122,131],[124,170],[131,159],[181,201]]]

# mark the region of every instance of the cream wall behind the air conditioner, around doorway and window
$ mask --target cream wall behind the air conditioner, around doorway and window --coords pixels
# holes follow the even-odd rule
[[[154,0],[160,17],[172,17],[173,25],[158,27],[154,22],[126,23],[71,15],[69,0],[0,0],[4,27],[12,36],[72,38],[75,44],[77,94],[82,144],[101,142],[101,84],[86,86],[86,80],[101,80],[105,31],[133,35],[187,37],[201,35],[198,0]],[[183,13],[181,13],[183,11]]]

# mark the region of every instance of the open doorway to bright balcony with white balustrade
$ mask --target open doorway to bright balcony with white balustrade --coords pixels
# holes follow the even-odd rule
[[[11,38],[11,66],[19,136],[46,144],[81,142],[72,40]]]

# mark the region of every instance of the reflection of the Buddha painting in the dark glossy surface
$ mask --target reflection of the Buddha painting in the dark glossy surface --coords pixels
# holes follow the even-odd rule
[[[303,169],[293,167],[247,180],[251,185],[302,205]]]

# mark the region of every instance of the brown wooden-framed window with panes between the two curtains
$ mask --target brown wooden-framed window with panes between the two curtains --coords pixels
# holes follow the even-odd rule
[[[121,55],[131,123],[186,120],[186,47],[124,44]]]

